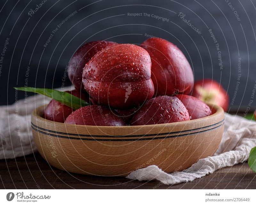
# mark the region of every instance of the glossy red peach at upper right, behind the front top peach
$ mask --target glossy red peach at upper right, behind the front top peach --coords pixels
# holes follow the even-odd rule
[[[148,51],[152,61],[155,96],[188,94],[192,90],[193,71],[176,45],[161,38],[149,38],[140,46]]]

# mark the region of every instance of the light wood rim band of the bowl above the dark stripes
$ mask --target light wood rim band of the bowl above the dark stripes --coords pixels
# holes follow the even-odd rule
[[[174,131],[169,132],[169,134],[175,134],[176,132],[183,132],[183,133],[188,132],[189,133],[189,131],[199,130],[202,128],[209,130],[211,127],[215,127],[223,122],[223,113],[224,113],[223,109],[220,106],[210,104],[209,106],[212,109],[215,109],[215,113],[213,113],[210,116],[195,119],[195,120],[189,120],[189,121],[183,121],[183,122],[172,122],[172,123],[165,123],[165,124],[137,125],[137,126],[92,126],[92,125],[65,124],[65,123],[61,123],[61,122],[53,122],[50,120],[46,120],[45,118],[43,118],[41,116],[42,112],[44,110],[44,106],[45,105],[39,106],[32,112],[32,114],[31,114],[32,128],[33,129],[42,128],[45,131],[50,131],[50,132],[59,133],[59,134],[61,134],[60,133],[60,132],[62,132],[61,128],[63,128],[64,130],[62,133],[68,134],[69,138],[76,138],[77,134],[79,135],[79,137],[82,136],[82,137],[105,138],[105,137],[109,137],[111,135],[114,137],[129,137],[129,136],[133,137],[133,138],[141,137],[141,136],[146,137],[146,136],[153,136],[153,135],[159,135],[159,134],[163,135],[163,133],[166,133],[166,130],[168,130],[168,128],[172,128],[172,129],[175,128]],[[41,126],[38,126],[37,125],[38,123]],[[205,126],[201,127],[200,125],[202,125],[202,124]],[[64,128],[64,126],[65,126],[65,128]],[[50,129],[46,129],[48,127]],[[176,129],[178,127],[182,127],[182,130]],[[189,129],[190,127],[193,127],[193,129]],[[76,130],[77,134],[69,133],[67,130],[70,130],[70,129]],[[90,132],[91,130],[94,130],[94,133],[95,133],[96,129],[100,130],[101,135],[98,135],[99,133],[94,135]],[[136,130],[136,131],[134,131],[134,130]],[[143,130],[145,130],[145,133]],[[155,131],[157,130],[156,133],[154,133],[155,132],[154,130]],[[161,130],[161,131],[159,132],[159,130]],[[176,132],[175,132],[175,130],[176,130]],[[84,134],[84,133],[88,133],[88,132],[89,132],[90,136],[86,136],[86,134]],[[116,132],[117,133],[122,132],[122,136],[116,135]],[[104,134],[102,134],[102,133],[104,133]],[[110,134],[106,134],[106,133],[110,133]],[[125,134],[125,133],[129,133],[129,134]],[[130,133],[132,133],[132,134],[130,134]],[[180,133],[180,135],[182,135],[182,134]]]

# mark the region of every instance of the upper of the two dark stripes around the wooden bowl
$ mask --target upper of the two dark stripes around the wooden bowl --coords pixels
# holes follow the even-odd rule
[[[212,127],[215,127],[215,126],[221,124],[222,122],[224,122],[224,119],[222,121],[218,122],[218,123],[215,123],[215,124],[212,124],[212,125],[208,125],[208,126],[205,126],[205,127],[202,127],[202,128],[196,128],[196,129],[193,129],[193,130],[202,130],[202,129],[205,129],[205,128],[211,129]],[[117,136],[106,135],[106,136],[102,136],[102,135],[79,135],[79,134],[73,134],[73,133],[57,132],[57,131],[47,130],[47,129],[38,127],[38,126],[36,126],[35,124],[33,124],[31,122],[31,126],[32,125],[35,128],[39,129],[39,130],[43,130],[43,131],[47,131],[47,132],[51,132],[51,133],[55,133],[55,134],[68,135],[68,136],[79,136],[79,137],[94,137],[94,138],[102,138],[102,137],[104,137],[104,138],[150,137],[150,136],[161,136],[161,135],[169,135],[169,134],[181,134],[181,133],[184,133],[184,132],[191,132],[191,131],[193,131],[193,130],[184,130],[184,131],[179,131],[179,132],[166,132],[166,133],[147,134],[147,135],[117,135]]]

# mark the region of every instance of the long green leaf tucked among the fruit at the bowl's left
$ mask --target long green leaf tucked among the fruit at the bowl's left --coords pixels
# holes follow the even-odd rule
[[[15,90],[18,91],[26,91],[26,92],[34,92],[37,94],[41,94],[57,100],[58,102],[69,106],[73,109],[78,109],[80,107],[88,106],[89,104],[85,102],[83,99],[77,98],[74,95],[71,95],[67,92],[56,91],[53,89],[45,89],[45,88],[31,88],[31,87],[14,87]]]

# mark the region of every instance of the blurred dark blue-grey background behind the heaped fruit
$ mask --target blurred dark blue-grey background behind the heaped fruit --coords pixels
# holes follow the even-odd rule
[[[256,80],[255,26],[256,1],[230,0],[236,19],[225,0],[152,0],[152,1],[51,1],[47,0],[36,13],[30,9],[42,0],[1,1],[0,51],[6,38],[10,38],[0,75],[0,104],[15,100],[13,86],[24,86],[27,67],[30,67],[28,85],[36,87],[60,87],[73,53],[85,42],[110,40],[118,43],[140,44],[145,34],[158,36],[176,44],[187,56],[195,74],[195,80],[213,78],[228,90],[233,98],[238,76],[238,58],[241,57],[241,84],[234,106],[247,106]],[[46,48],[44,44],[57,27],[72,12],[53,35]],[[172,12],[173,11],[173,12]],[[175,13],[176,12],[176,13]],[[182,12],[199,35],[179,17]],[[148,13],[163,16],[169,22],[152,17],[130,17],[127,13]],[[220,45],[223,70],[220,70],[218,53],[208,29]],[[70,85],[68,79],[65,85]],[[19,92],[18,98],[24,98]],[[255,105],[256,99],[253,102]],[[231,106],[234,107],[234,106]]]

